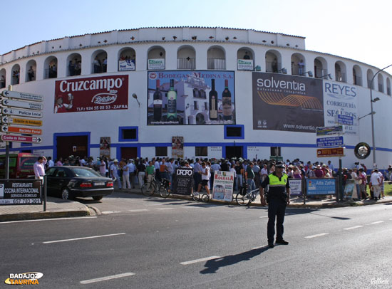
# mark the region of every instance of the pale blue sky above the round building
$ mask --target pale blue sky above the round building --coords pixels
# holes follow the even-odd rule
[[[115,29],[220,26],[304,36],[307,50],[392,64],[390,0],[1,0],[0,11],[0,54]]]

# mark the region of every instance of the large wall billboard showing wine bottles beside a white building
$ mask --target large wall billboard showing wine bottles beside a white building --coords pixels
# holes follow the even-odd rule
[[[149,71],[148,125],[234,125],[232,71]]]

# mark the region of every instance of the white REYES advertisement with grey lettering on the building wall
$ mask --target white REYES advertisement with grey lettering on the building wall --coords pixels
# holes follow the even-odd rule
[[[347,83],[324,81],[325,126],[336,125],[335,116],[352,117],[353,125],[345,125],[346,135],[358,134],[358,97],[356,87]]]

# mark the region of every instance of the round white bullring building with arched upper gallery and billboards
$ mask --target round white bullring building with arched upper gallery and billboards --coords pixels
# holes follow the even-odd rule
[[[317,157],[315,130],[336,125],[335,115],[341,114],[353,120],[343,135],[343,166],[363,162],[370,169],[372,157],[357,159],[354,147],[373,145],[373,79],[373,100],[379,100],[373,101],[376,162],[386,169],[392,164],[392,76],[378,70],[307,51],[301,36],[220,27],[138,28],[5,53],[0,91],[11,85],[13,91],[43,96],[42,142],[12,142],[11,152],[53,159],[273,155],[330,159],[337,167],[338,157]],[[4,153],[4,143],[0,150]]]

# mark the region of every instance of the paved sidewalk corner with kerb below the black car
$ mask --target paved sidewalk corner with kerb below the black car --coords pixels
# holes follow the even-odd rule
[[[43,211],[43,204],[0,206],[0,222],[89,216],[91,214],[94,212],[78,201],[67,201],[52,196],[47,197],[46,211]]]

